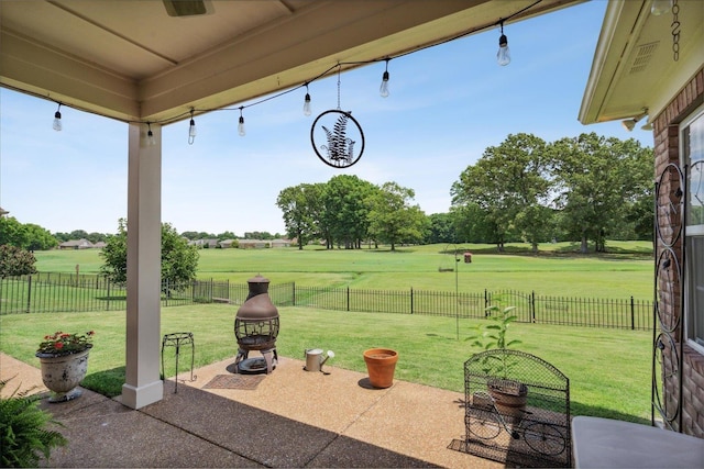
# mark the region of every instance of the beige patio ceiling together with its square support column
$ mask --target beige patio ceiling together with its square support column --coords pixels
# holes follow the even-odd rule
[[[160,379],[162,126],[327,74],[526,20],[576,0],[0,3],[0,83],[127,123],[128,314],[122,403]],[[129,5],[127,8],[125,5]]]

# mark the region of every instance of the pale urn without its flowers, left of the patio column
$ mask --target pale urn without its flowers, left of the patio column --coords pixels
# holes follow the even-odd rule
[[[50,402],[66,402],[80,397],[82,391],[78,384],[88,371],[89,351],[90,347],[69,355],[36,354],[42,364],[42,381],[52,391]]]

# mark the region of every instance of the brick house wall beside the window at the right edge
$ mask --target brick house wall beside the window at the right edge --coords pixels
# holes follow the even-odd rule
[[[663,171],[668,169],[668,165],[680,164],[680,150],[679,150],[679,126],[690,113],[692,113],[698,105],[704,103],[704,68],[700,69],[694,78],[690,80],[686,86],[674,97],[664,111],[656,118],[653,121],[653,136],[654,136],[654,152],[656,152],[656,180],[661,180],[663,188],[659,190],[659,204],[666,206],[666,200],[671,197],[673,189],[679,186],[679,178],[674,177],[675,172],[666,172],[667,176],[661,179]],[[664,199],[664,200],[663,200]],[[679,220],[675,220],[679,222]],[[667,238],[669,233],[669,226],[673,224],[672,219],[666,220],[664,213],[658,213],[658,226],[661,233]],[[658,242],[657,257],[659,259],[667,246]],[[682,261],[682,238],[672,243],[672,250],[674,252],[680,264]],[[661,332],[667,328],[672,328],[673,325],[681,325],[682,319],[680,315],[680,304],[682,299],[678,297],[670,298],[666,289],[666,279],[662,278],[662,273],[659,272],[658,284],[660,287],[659,314],[661,322],[666,324],[666,327],[661,327]],[[680,291],[679,279],[673,281],[674,288],[672,291]],[[671,333],[674,339],[674,350],[669,345],[668,340],[664,340],[663,349],[663,368],[666,370],[672,370],[678,368],[676,357],[681,345],[681,327],[674,327]],[[682,366],[682,390],[680,392],[680,383],[675,378],[664,379],[662,383],[661,397],[662,404],[669,410],[668,414],[671,414],[672,410],[679,407],[679,403],[682,404],[681,426],[680,429],[680,415],[674,418],[672,425],[674,429],[682,431],[689,435],[694,435],[700,438],[704,438],[704,356],[684,345],[683,347],[683,366]]]

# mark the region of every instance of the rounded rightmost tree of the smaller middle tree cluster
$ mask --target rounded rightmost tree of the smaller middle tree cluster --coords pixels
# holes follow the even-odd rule
[[[385,182],[373,191],[367,202],[369,235],[396,249],[398,243],[419,243],[429,227],[426,214],[419,205],[411,205],[413,189],[396,182]]]

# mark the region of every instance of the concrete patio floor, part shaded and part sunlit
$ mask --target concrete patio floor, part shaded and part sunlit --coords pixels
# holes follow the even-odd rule
[[[248,378],[250,389],[208,388],[229,379],[233,362],[196,369],[194,381],[179,370],[164,399],[139,411],[88,390],[65,403],[42,399],[69,440],[46,466],[505,467],[448,448],[465,432],[461,393],[398,380],[374,389],[364,373],[309,372],[285,357],[271,375]],[[38,368],[0,355],[0,378],[13,376],[8,390],[46,391]]]

